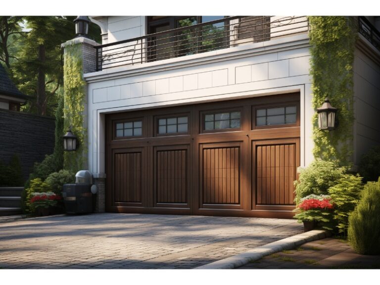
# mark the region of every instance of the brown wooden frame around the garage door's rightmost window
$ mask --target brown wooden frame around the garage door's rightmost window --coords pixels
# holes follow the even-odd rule
[[[271,108],[281,108],[281,107],[296,107],[295,113],[295,123],[292,124],[278,124],[278,125],[264,125],[256,126],[256,115],[257,110],[260,109],[271,109]],[[274,129],[274,128],[290,128],[290,127],[299,127],[300,126],[300,103],[299,101],[287,101],[287,102],[278,102],[272,104],[263,104],[263,105],[253,105],[251,110],[251,124],[252,130],[262,130],[262,129]]]

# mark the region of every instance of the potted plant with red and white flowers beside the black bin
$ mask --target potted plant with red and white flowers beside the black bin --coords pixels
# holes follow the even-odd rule
[[[60,195],[53,192],[34,192],[31,194],[30,205],[37,216],[47,216],[55,214],[61,199]]]

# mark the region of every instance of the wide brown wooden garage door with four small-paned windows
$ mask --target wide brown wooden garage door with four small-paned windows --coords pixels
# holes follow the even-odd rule
[[[291,217],[299,94],[106,116],[106,210]]]

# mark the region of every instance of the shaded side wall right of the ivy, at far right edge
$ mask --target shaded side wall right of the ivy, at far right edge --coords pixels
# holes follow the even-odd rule
[[[361,36],[360,36],[361,37]],[[364,43],[367,41],[361,37]],[[380,144],[380,52],[356,48],[354,57],[354,164],[363,153]],[[374,60],[374,58],[377,58]]]

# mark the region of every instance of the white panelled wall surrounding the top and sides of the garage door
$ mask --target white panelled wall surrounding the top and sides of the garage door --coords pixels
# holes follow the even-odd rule
[[[90,171],[105,171],[106,113],[290,92],[300,92],[301,166],[307,166],[314,159],[308,47],[307,35],[298,35],[85,74]]]

